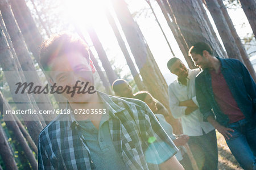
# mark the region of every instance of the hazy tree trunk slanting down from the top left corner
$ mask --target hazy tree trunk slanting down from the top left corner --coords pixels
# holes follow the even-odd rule
[[[36,73],[36,69],[34,66],[34,62],[28,52],[26,43],[23,40],[22,33],[20,32],[19,26],[16,23],[13,12],[11,11],[9,2],[7,0],[3,0],[0,2],[0,10],[2,12],[3,20],[5,22],[7,32],[11,37],[11,41],[13,42],[13,46],[16,52],[16,55],[19,59],[20,66],[22,67],[26,80],[28,83],[33,82],[35,86],[43,87],[41,80]],[[39,109],[41,111],[53,110],[51,100],[46,94],[34,94],[31,98],[34,97]],[[53,114],[42,114],[44,120],[46,120],[47,124],[55,118]]]

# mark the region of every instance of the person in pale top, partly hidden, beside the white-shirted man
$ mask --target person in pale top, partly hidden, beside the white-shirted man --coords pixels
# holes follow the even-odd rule
[[[134,94],[134,99],[139,99],[144,101],[148,107],[151,109],[151,111],[155,114],[156,118],[158,119],[160,125],[163,127],[164,131],[169,135],[169,137],[174,141],[175,145],[179,148],[179,151],[175,155],[177,160],[183,165],[184,169],[190,170],[192,168],[191,161],[188,157],[187,151],[184,147],[184,145],[187,143],[189,137],[188,135],[179,135],[176,136],[173,133],[172,126],[168,124],[168,122],[165,120],[163,114],[158,113],[158,108],[156,107],[156,102],[154,100],[154,97],[147,92],[147,91],[139,91],[136,94]]]

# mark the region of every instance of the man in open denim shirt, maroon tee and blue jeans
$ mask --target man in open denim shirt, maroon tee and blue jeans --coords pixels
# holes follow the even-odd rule
[[[203,69],[196,78],[196,97],[205,120],[224,135],[242,168],[256,169],[256,86],[253,78],[237,59],[214,57],[212,48],[204,42],[193,45],[189,56]]]

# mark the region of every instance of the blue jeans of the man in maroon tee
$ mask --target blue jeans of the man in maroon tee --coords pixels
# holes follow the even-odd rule
[[[226,139],[230,151],[240,163],[243,169],[256,169],[256,123],[250,123],[245,119],[233,124],[229,124],[227,128],[233,129],[234,132],[230,139]]]

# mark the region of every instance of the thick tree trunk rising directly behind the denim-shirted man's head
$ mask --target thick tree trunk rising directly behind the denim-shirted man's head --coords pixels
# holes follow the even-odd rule
[[[205,20],[203,11],[201,10],[203,3],[193,0],[168,1],[172,12],[174,12],[175,22],[179,27],[180,33],[183,35],[188,47],[199,41],[206,42],[211,45],[214,55],[224,57],[219,41],[214,38],[210,27]]]

